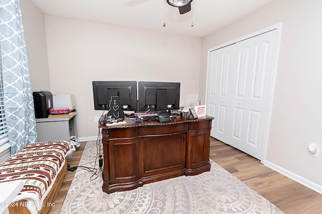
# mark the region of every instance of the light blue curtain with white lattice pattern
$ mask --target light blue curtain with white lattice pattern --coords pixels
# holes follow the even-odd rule
[[[19,0],[0,0],[5,112],[11,154],[37,141],[34,101]]]

